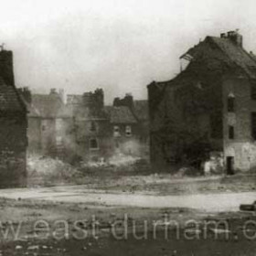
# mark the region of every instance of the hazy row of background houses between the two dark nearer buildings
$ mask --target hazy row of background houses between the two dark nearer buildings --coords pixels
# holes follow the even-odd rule
[[[82,95],[52,89],[20,90],[27,102],[28,152],[80,161],[107,161],[113,155],[148,157],[147,101],[132,95],[105,106],[101,89]]]

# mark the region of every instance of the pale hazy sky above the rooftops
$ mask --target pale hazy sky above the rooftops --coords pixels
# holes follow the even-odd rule
[[[255,0],[8,0],[0,44],[14,52],[17,87],[146,99],[146,85],[171,80],[206,36],[238,28],[256,52],[255,9]]]

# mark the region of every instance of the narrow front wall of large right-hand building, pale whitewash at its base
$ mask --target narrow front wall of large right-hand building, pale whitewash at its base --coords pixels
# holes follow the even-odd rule
[[[234,112],[228,112],[227,99],[234,97]],[[256,101],[251,100],[251,80],[228,78],[223,83],[224,159],[234,157],[235,171],[248,171],[256,166],[256,142],[251,136],[251,112]],[[234,139],[229,139],[229,125],[234,127]]]

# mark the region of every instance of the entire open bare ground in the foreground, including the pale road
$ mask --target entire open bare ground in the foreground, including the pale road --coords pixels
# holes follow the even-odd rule
[[[142,178],[144,182],[141,182]],[[142,176],[138,179],[136,183],[135,176],[127,176],[126,179],[115,177],[109,181],[105,177],[98,183],[81,186],[2,189],[0,255],[256,254],[256,225],[250,228],[250,240],[243,234],[244,223],[248,220],[256,221],[256,214],[239,211],[241,203],[251,204],[256,200],[255,176],[233,177],[224,182],[219,177],[169,180],[166,176]],[[239,183],[241,179],[246,182]],[[139,183],[143,186],[133,187]],[[240,184],[240,187],[236,184]],[[122,223],[125,218],[128,235],[123,238]],[[33,227],[42,219],[49,224],[48,237],[45,237],[44,230],[39,230],[35,235]],[[99,229],[93,235],[91,227],[95,219],[99,222]],[[206,219],[225,219],[229,222],[229,239],[223,236],[213,239],[210,230],[207,238],[194,237],[187,240],[187,237],[181,236],[176,239],[175,229],[170,229],[166,239],[165,226],[161,225],[176,220],[183,233],[189,219],[198,223]],[[67,229],[63,234],[63,229],[60,229],[59,239],[54,236],[55,231],[59,230],[57,220],[68,223],[68,237],[64,236],[67,235]],[[86,225],[80,230],[86,230],[88,234],[83,239],[76,239],[72,236],[77,232],[74,223],[81,220]],[[117,229],[119,239],[112,234],[112,227],[117,227],[116,221],[121,221]],[[144,221],[150,223],[146,232]],[[160,229],[157,229],[156,238],[151,225],[154,221],[162,223]],[[17,237],[12,233],[5,237],[4,231],[10,223],[15,224],[15,230],[20,225]]]

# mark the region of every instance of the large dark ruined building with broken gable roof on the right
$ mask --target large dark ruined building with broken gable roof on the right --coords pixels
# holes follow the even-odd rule
[[[198,167],[218,153],[228,174],[255,168],[256,61],[242,36],[206,37],[180,59],[175,79],[148,85],[152,164]]]

